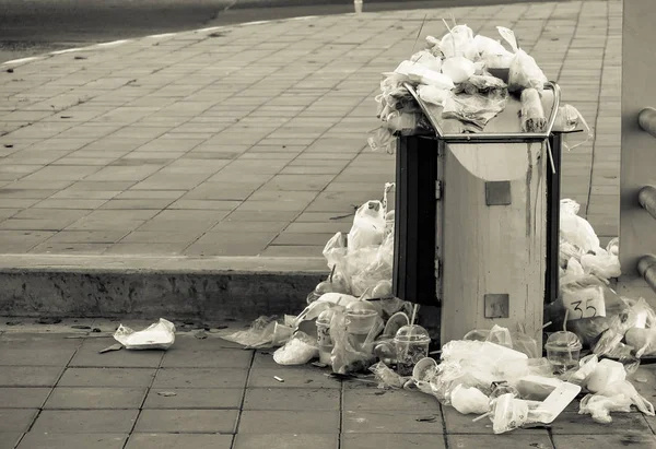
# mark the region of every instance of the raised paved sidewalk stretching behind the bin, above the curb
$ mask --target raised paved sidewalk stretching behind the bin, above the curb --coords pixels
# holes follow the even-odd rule
[[[395,158],[380,73],[453,14],[517,33],[596,138],[563,196],[618,234],[621,2],[323,16],[161,35],[1,66],[0,251],[320,256]],[[421,38],[418,43],[419,29]]]

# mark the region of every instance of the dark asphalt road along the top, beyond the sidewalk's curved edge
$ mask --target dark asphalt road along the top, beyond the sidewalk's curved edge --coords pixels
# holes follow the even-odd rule
[[[364,11],[520,1],[364,0]],[[344,12],[353,12],[352,0],[0,0],[0,62],[150,34]]]

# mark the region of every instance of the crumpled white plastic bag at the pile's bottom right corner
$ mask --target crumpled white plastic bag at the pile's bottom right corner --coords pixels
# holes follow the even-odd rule
[[[635,405],[642,413],[654,416],[654,405],[644,399],[628,380],[613,382],[604,390],[587,394],[581,401],[578,414],[589,414],[597,423],[612,422],[610,412],[631,412]]]

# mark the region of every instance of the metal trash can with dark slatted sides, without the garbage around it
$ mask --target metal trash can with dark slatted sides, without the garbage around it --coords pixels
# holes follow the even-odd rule
[[[544,132],[520,132],[509,99],[468,134],[444,132],[407,87],[435,134],[397,140],[395,295],[441,308],[441,344],[500,324],[541,347],[543,304],[558,295],[559,86],[543,91]]]

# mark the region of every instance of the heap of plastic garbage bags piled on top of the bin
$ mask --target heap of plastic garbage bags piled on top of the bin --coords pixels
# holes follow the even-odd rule
[[[434,132],[408,86],[441,119],[454,119],[454,132],[482,131],[505,109],[511,95],[522,103],[522,131],[546,131],[548,119],[541,96],[548,80],[536,60],[519,48],[513,31],[496,27],[506,49],[500,40],[475,36],[467,25],[455,21],[453,27],[446,21],[444,24],[448,32],[441,39],[427,36],[424,49],[394,72],[384,73],[376,96],[382,126],[368,138],[370,146],[391,153],[396,133]],[[558,110],[554,130],[573,131],[579,122],[589,139],[590,129],[581,114],[565,105]]]

